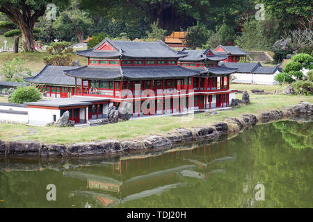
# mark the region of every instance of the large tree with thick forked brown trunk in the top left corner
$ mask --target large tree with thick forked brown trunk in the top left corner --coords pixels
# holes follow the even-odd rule
[[[39,17],[45,15],[46,7],[54,3],[61,7],[67,0],[0,0],[0,12],[3,12],[10,22],[19,27],[22,33],[22,51],[33,51],[33,28]]]

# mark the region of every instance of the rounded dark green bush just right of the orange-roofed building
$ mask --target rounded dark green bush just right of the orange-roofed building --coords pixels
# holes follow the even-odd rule
[[[209,31],[207,27],[198,22],[196,26],[188,28],[188,34],[185,37],[186,44],[191,49],[196,49],[197,47],[202,47],[207,43],[209,37]]]

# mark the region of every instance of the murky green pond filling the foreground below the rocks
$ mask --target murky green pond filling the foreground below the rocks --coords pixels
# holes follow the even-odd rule
[[[313,207],[312,134],[279,121],[154,153],[2,158],[0,207]]]

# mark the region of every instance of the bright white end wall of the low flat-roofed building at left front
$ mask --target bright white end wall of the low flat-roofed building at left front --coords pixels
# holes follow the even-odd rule
[[[60,118],[60,110],[28,108],[28,111],[29,125],[45,126],[54,121],[54,115],[56,115],[56,121]]]

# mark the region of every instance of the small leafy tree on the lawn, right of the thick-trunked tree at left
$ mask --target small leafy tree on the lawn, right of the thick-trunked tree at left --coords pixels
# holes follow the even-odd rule
[[[83,43],[83,34],[93,25],[93,20],[88,13],[79,10],[77,1],[71,1],[70,8],[60,13],[53,24],[53,27],[63,34],[74,33],[79,43]]]

